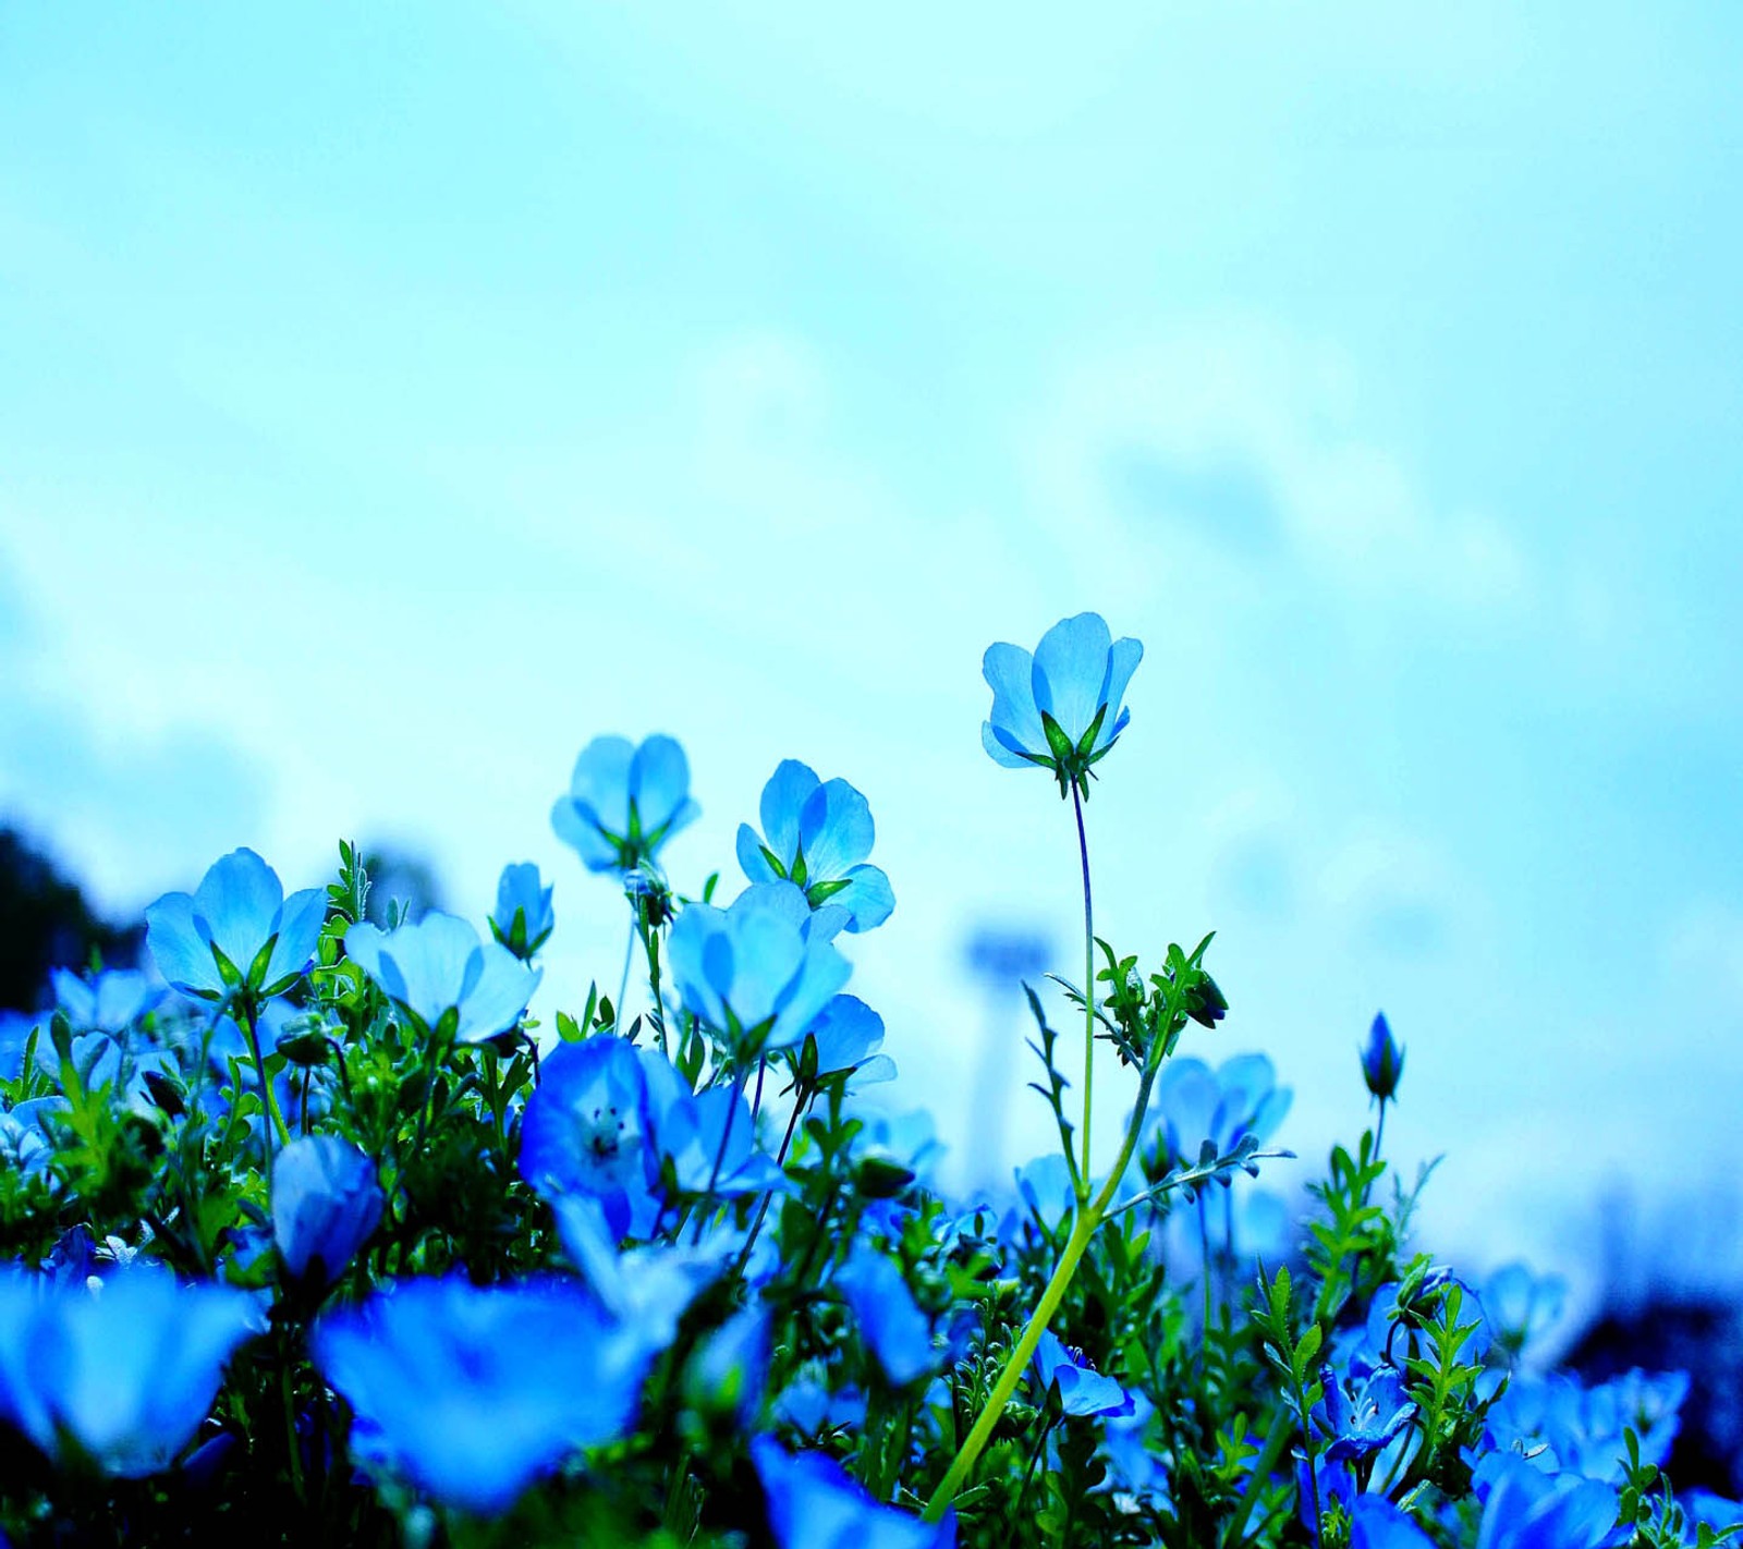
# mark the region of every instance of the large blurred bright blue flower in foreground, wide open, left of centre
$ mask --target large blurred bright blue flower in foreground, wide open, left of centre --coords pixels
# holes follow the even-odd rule
[[[634,1420],[654,1347],[573,1281],[406,1281],[328,1312],[310,1350],[356,1411],[352,1455],[443,1505],[507,1511]]]

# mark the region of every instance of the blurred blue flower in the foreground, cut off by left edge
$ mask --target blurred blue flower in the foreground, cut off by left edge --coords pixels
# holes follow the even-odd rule
[[[77,1448],[141,1479],[193,1439],[225,1363],[260,1329],[246,1291],[178,1286],[157,1265],[113,1268],[96,1288],[0,1277],[0,1418],[56,1462]]]

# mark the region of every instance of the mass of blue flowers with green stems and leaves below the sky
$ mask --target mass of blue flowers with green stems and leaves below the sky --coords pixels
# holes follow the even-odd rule
[[[561,876],[383,929],[350,845],[289,896],[235,850],[139,969],[58,972],[0,1019],[0,1542],[1719,1542],[1738,1509],[1668,1479],[1685,1378],[1546,1368],[1555,1282],[1410,1242],[1384,1018],[1375,1127],[1306,1211],[1253,1187],[1292,1094],[1225,1047],[1210,937],[1093,930],[1082,800],[1140,659],[1093,613],[987,652],[983,744],[1055,775],[1084,887],[1063,998],[1044,944],[976,951],[1035,981],[1060,1136],[1002,1190],[873,1101],[931,1030],[847,990],[894,889],[866,796],[797,760],[716,899],[668,873],[678,742],[587,742],[551,821],[617,883],[615,998],[535,1009]]]

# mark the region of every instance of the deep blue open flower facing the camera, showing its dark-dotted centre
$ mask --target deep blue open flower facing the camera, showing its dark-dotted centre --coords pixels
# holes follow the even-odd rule
[[[521,1176],[553,1204],[563,1195],[596,1199],[614,1239],[645,1235],[659,1216],[648,1131],[648,1084],[634,1045],[610,1033],[563,1044],[542,1061],[526,1099]]]

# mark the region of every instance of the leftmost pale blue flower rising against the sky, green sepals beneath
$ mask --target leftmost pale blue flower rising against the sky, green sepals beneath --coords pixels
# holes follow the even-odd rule
[[[232,850],[193,894],[166,892],[145,911],[145,944],[178,990],[223,1000],[246,984],[281,995],[309,967],[326,920],[319,887],[284,896],[277,873],[253,850]]]

